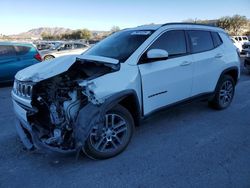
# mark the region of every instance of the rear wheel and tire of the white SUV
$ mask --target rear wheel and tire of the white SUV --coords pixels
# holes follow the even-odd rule
[[[209,101],[209,106],[217,110],[229,107],[234,97],[234,91],[234,79],[230,75],[224,75],[216,86],[215,95]]]

